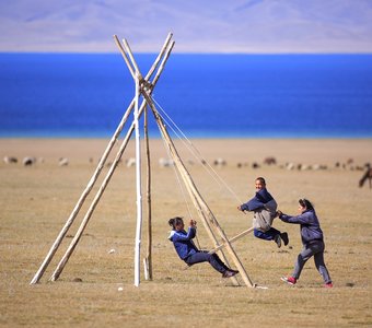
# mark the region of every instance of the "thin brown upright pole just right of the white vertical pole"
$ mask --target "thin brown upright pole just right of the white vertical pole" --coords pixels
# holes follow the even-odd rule
[[[148,280],[152,280],[152,211],[151,211],[151,159],[148,126],[148,108],[144,110],[144,138],[147,157],[147,206],[148,206],[148,249],[146,255],[146,271]]]

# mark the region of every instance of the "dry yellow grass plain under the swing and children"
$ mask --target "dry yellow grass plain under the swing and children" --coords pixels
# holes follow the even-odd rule
[[[278,249],[274,243],[252,235],[234,244],[251,279],[267,290],[232,286],[207,263],[184,270],[185,265],[166,239],[167,219],[188,216],[188,212],[173,169],[159,167],[158,160],[165,156],[160,140],[152,141],[154,280],[147,282],[142,277],[140,286],[133,286],[135,169],[120,164],[60,279],[47,282],[82,215],[40,283],[30,285],[94,172],[89,159],[96,163],[107,140],[2,139],[1,157],[14,155],[22,160],[31,155],[43,157],[44,163],[31,167],[0,164],[0,326],[371,327],[372,190],[358,187],[361,171],[335,168],[334,164],[348,159],[359,166],[371,162],[372,140],[193,142],[207,161],[226,160],[225,167],[216,169],[242,201],[254,194],[258,175],[267,178],[269,191],[284,212],[294,214],[300,197],[314,201],[326,237],[325,259],[334,289],[322,286],[312,260],[298,285],[280,281],[292,271],[301,249],[298,226],[280,221],[275,221],[275,226],[288,231],[291,248]],[[185,151],[181,153],[186,161],[193,159]],[[124,157],[132,155],[130,144]],[[60,156],[69,157],[68,166],[58,166]],[[278,165],[261,165],[266,156],[275,156]],[[253,162],[260,168],[253,169]],[[280,168],[286,162],[326,164],[328,168]],[[243,167],[239,168],[237,163]],[[233,236],[247,229],[252,215],[236,210],[239,200],[200,165],[189,168],[225,233]],[[197,218],[194,211],[191,214]],[[201,246],[210,248],[200,220],[198,225]],[[146,245],[144,224],[142,253]],[[116,251],[109,254],[113,248]],[[78,278],[80,282],[75,282]]]

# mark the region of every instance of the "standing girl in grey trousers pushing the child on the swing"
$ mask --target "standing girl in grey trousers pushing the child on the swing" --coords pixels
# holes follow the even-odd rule
[[[326,288],[333,288],[333,283],[324,263],[324,241],[323,231],[321,229],[319,221],[316,216],[313,204],[307,199],[299,200],[299,212],[298,216],[290,216],[278,211],[279,219],[287,223],[300,224],[301,239],[303,249],[299,254],[294,271],[290,277],[282,277],[281,280],[289,284],[295,284],[300,278],[301,271],[305,262],[314,256],[315,267],[323,277]]]

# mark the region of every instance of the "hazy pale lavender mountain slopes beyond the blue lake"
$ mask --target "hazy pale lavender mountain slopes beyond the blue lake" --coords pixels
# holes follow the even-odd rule
[[[0,0],[0,51],[372,52],[372,0]]]

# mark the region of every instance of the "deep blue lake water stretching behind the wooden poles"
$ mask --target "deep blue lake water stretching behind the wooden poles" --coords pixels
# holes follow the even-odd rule
[[[0,54],[3,138],[111,137],[133,95],[120,54]],[[189,138],[371,138],[372,55],[174,54],[153,96]]]

